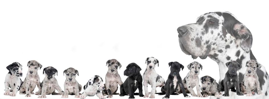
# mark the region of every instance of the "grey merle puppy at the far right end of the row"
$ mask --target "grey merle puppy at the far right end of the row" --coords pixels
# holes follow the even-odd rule
[[[247,94],[247,96],[253,96],[255,90],[258,92],[258,95],[264,95],[260,90],[260,82],[258,81],[259,77],[257,76],[256,70],[261,68],[260,63],[256,60],[249,60],[246,63],[246,73],[242,82],[242,92]]]

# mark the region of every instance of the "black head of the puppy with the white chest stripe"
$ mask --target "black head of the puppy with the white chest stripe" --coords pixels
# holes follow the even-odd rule
[[[183,70],[184,66],[178,62],[169,62],[168,63],[170,67],[170,75],[171,76],[179,76],[180,68]]]

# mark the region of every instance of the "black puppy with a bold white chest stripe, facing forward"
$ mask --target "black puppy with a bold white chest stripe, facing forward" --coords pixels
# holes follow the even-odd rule
[[[183,86],[182,79],[179,75],[180,68],[183,70],[184,66],[178,62],[170,62],[168,63],[170,67],[170,74],[168,79],[165,82],[165,85],[161,89],[161,93],[156,93],[158,95],[164,95],[163,99],[167,99],[171,95],[178,95],[182,91],[184,97],[190,97]],[[177,93],[175,93],[177,92]]]

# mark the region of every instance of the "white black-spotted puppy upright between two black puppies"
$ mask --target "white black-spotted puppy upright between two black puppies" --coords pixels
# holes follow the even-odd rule
[[[156,87],[163,87],[165,84],[164,78],[157,74],[155,71],[155,67],[158,64],[159,67],[159,61],[158,59],[154,57],[148,57],[146,59],[145,64],[147,64],[147,68],[143,74],[143,81],[144,81],[144,88],[145,88],[145,95],[144,98],[149,96],[148,92],[148,84],[151,85],[151,92],[149,98],[155,98],[156,93]]]

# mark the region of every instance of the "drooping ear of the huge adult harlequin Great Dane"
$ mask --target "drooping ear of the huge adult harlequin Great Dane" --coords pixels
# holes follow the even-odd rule
[[[241,39],[240,47],[249,53],[252,46],[252,34],[247,27],[242,23],[236,23],[233,26],[234,36]]]

